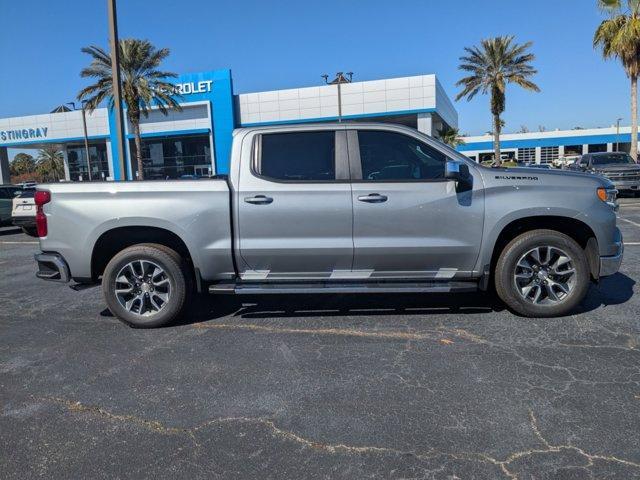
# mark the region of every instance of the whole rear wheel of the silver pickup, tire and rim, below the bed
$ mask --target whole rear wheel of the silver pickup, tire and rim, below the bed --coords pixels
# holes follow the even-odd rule
[[[171,323],[182,312],[188,276],[180,256],[163,245],[125,248],[107,264],[102,293],[109,310],[139,328]]]

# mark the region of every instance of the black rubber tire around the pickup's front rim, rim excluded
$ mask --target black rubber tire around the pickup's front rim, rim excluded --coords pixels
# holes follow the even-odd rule
[[[550,304],[537,304],[525,299],[520,293],[515,273],[516,265],[523,255],[536,247],[544,246],[559,248],[571,258],[575,269],[575,283],[560,300]],[[535,274],[531,276],[534,277]],[[545,318],[565,315],[578,306],[589,290],[590,271],[586,254],[575,240],[555,230],[532,230],[517,236],[504,248],[496,264],[494,278],[496,292],[510,310],[525,317]],[[544,288],[540,289],[545,291]]]

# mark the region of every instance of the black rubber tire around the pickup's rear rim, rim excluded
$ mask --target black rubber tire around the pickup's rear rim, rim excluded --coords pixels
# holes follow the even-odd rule
[[[144,312],[128,310],[116,295],[116,277],[128,264],[138,261],[157,265],[163,271],[162,278],[168,280],[168,299],[158,311],[142,314]],[[174,250],[152,243],[125,248],[111,259],[102,275],[102,293],[109,310],[121,321],[136,328],[157,328],[172,323],[183,312],[190,289],[191,276],[186,262]],[[144,305],[152,310],[149,295],[147,293],[145,299],[136,302],[140,309]]]

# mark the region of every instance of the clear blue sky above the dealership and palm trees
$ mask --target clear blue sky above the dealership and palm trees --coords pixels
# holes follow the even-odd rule
[[[500,34],[534,42],[542,93],[513,87],[506,132],[596,127],[623,117],[629,87],[617,62],[592,48],[595,0],[121,0],[121,37],[169,47],[166,68],[231,68],[236,93],[436,73],[450,97],[463,47]],[[0,0],[0,117],[47,112],[85,81],[85,45],[107,47],[105,0]],[[456,103],[463,133],[490,129],[487,97]]]

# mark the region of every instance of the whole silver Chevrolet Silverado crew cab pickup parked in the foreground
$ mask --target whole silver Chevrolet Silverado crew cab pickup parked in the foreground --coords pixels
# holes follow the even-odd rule
[[[138,327],[171,322],[195,292],[495,288],[549,317],[622,261],[600,176],[485,168],[378,123],[238,129],[231,155],[228,177],[39,186],[37,276],[101,281]]]

